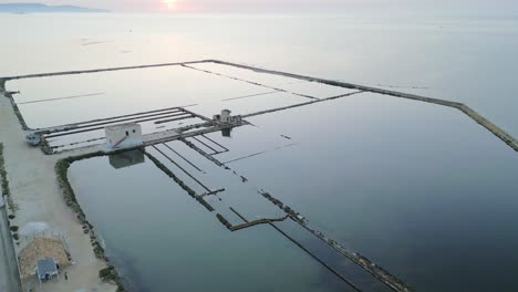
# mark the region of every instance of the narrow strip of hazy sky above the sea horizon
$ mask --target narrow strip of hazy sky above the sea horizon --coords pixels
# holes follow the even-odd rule
[[[121,12],[325,13],[370,10],[457,14],[515,14],[518,12],[518,0],[40,0],[40,2],[104,8]]]

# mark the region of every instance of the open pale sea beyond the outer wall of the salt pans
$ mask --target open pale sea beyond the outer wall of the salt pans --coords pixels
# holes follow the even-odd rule
[[[460,101],[518,136],[516,18],[2,14],[0,24],[13,28],[0,75],[222,59]]]

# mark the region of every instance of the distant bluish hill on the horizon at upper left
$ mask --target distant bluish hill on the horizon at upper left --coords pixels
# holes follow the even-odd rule
[[[95,13],[108,12],[104,9],[92,9],[75,6],[46,6],[42,3],[0,3],[0,13],[48,13],[48,12],[77,12]]]

